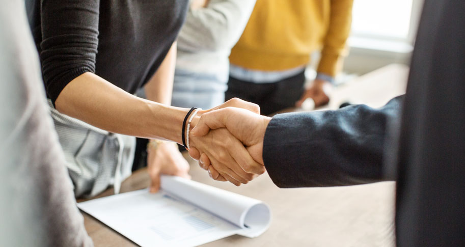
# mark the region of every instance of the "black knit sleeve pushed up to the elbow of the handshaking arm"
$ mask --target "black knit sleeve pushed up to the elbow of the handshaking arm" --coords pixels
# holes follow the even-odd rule
[[[53,104],[71,80],[95,73],[99,5],[99,0],[41,1],[40,60]]]

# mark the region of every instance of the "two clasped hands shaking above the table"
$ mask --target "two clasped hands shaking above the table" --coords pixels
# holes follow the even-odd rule
[[[271,118],[261,116],[258,105],[234,98],[199,115],[189,155],[210,177],[239,186],[265,172],[263,139]]]

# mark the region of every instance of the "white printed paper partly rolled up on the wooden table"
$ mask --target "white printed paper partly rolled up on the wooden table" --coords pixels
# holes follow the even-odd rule
[[[196,246],[239,234],[256,237],[270,223],[261,201],[172,176],[148,189],[78,203],[77,206],[133,242],[145,246]]]

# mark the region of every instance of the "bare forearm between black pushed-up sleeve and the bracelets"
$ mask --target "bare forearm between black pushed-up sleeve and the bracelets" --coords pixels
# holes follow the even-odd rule
[[[110,132],[177,143],[182,143],[182,121],[188,111],[136,97],[89,72],[63,89],[56,107]]]

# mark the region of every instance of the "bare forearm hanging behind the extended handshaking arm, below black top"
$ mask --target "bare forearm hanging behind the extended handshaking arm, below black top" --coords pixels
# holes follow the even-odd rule
[[[171,105],[175,67],[176,41],[171,46],[160,67],[145,85],[145,95],[148,100]]]

